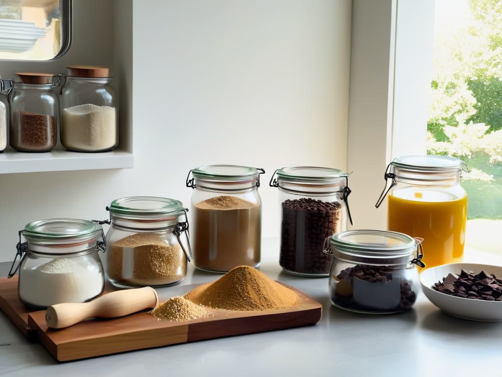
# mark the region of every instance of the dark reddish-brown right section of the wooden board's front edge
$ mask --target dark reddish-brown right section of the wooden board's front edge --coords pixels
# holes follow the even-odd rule
[[[211,330],[217,335],[208,335],[204,323],[189,324],[188,342],[315,325],[322,317],[322,306],[301,312],[274,313],[267,317],[267,321],[263,320],[263,316],[259,320],[257,317],[239,317],[213,321]]]

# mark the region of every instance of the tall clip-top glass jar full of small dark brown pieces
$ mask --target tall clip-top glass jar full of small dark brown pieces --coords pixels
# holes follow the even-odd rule
[[[329,167],[284,167],[272,175],[270,185],[279,187],[279,264],[298,275],[328,276],[331,261],[322,252],[324,240],[347,229],[347,215],[352,224],[348,174]]]

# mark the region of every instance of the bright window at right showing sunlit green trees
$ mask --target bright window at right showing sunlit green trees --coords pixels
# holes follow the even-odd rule
[[[500,253],[502,230],[502,2],[436,2],[430,154],[464,160],[466,246]]]

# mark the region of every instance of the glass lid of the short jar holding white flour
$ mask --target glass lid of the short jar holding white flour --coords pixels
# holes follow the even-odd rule
[[[101,232],[101,225],[88,220],[48,219],[29,223],[23,235],[36,240],[59,240],[69,238],[89,239]]]

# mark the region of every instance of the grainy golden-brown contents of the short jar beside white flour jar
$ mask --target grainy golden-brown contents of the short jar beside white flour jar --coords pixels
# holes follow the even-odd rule
[[[115,241],[108,250],[108,276],[117,284],[167,285],[186,275],[186,257],[157,233],[137,233]]]

